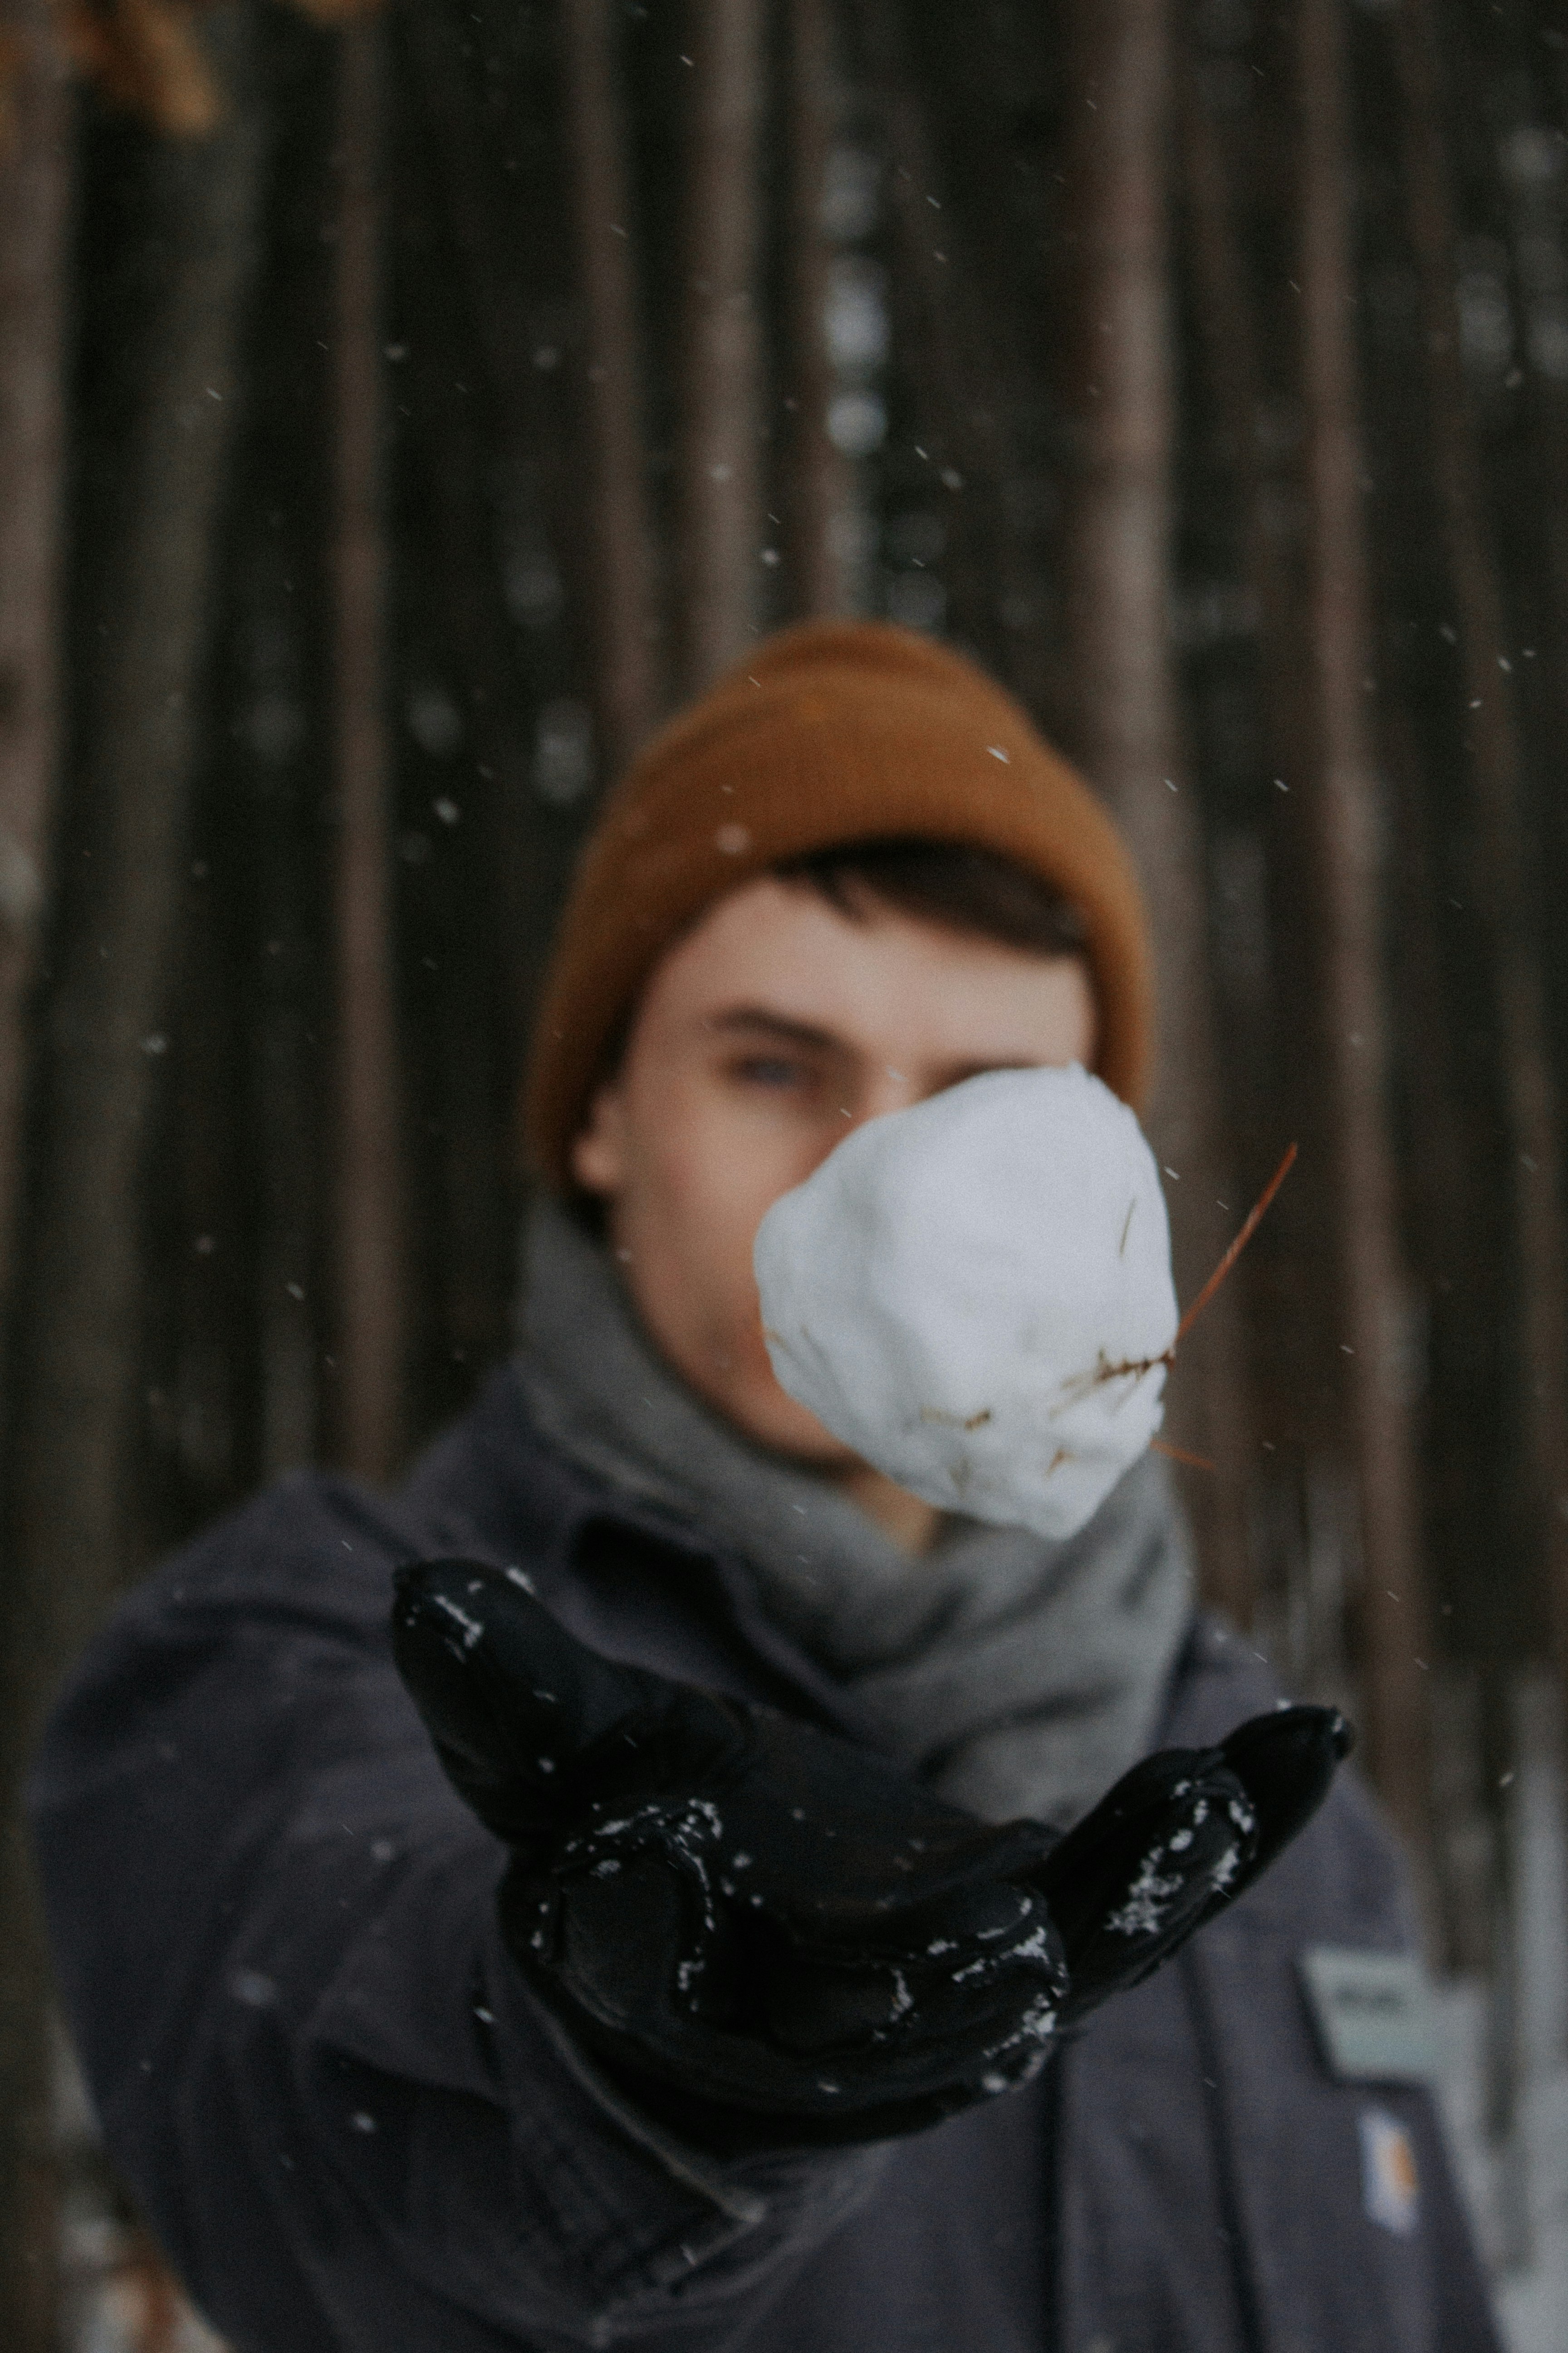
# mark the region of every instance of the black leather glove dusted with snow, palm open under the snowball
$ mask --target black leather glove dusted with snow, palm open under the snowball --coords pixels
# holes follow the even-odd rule
[[[393,1645],[447,1774],[512,1847],[501,1927],[529,1986],[719,2148],[889,2139],[1025,2082],[1063,2005],[1175,1951],[1333,1769],[1307,1744],[1305,1793],[1267,1739],[1328,1711],[1260,1718],[1244,1734],[1267,1769],[1168,1751],[1060,1840],[978,1824],[773,1708],[614,1666],[517,1569],[402,1569]]]

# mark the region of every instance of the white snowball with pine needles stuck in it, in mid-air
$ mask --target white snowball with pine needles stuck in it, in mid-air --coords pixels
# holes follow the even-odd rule
[[[783,1388],[926,1504],[1072,1537],[1161,1424],[1159,1169],[1077,1064],[867,1120],[773,1202],[755,1268]]]

